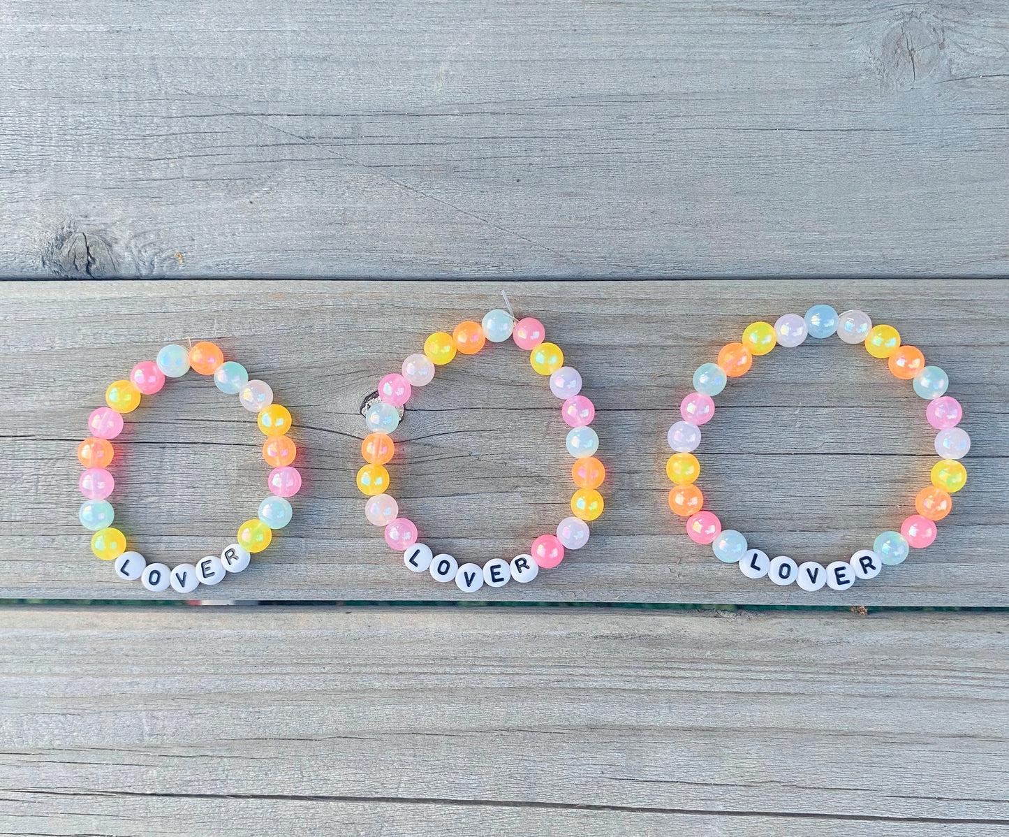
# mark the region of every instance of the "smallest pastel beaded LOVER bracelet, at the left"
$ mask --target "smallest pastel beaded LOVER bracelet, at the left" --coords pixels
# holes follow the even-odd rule
[[[122,432],[123,415],[140,406],[141,396],[153,395],[164,386],[165,378],[181,378],[190,369],[200,375],[214,377],[222,393],[237,395],[242,407],[256,414],[256,424],[266,435],[262,456],[273,466],[266,480],[270,496],[259,504],[256,518],[246,520],[238,529],[237,543],[224,547],[220,557],[207,555],[191,563],[181,563],[174,569],[163,563],[147,563],[139,552],[127,551],[126,536],[112,526],[115,512],[105,499],[115,487],[107,466],[112,462],[110,439]],[[179,593],[192,593],[201,584],[216,585],[227,572],[241,572],[249,564],[252,552],[269,546],[272,530],[291,522],[291,503],[287,498],[298,494],[302,478],[292,467],[297,453],[295,442],[287,436],[291,429],[291,413],[273,403],[273,391],[262,381],[249,381],[241,363],[225,361],[221,349],[214,343],[200,342],[188,351],[171,344],[157,352],[155,360],[142,360],[133,367],[128,380],[116,381],[105,391],[106,407],[99,407],[88,419],[91,436],[78,446],[77,457],[84,465],[81,493],[87,498],[78,517],[86,529],[95,534],[91,549],[103,560],[115,560],[116,574],[126,581],[140,580],[149,591],[161,592],[169,585]]]

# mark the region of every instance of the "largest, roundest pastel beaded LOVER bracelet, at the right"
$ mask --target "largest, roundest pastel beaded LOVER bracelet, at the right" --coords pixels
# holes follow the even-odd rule
[[[901,524],[900,531],[881,533],[872,549],[860,549],[848,560],[837,560],[825,567],[816,561],[796,563],[787,555],[769,558],[760,549],[751,549],[746,537],[735,529],[722,530],[721,522],[709,511],[702,511],[703,495],[694,485],[700,463],[691,452],[700,443],[699,425],[714,415],[712,396],[718,395],[730,378],[739,378],[750,370],[753,358],[767,354],[775,345],[797,346],[807,336],[822,339],[834,332],[846,343],[865,343],[874,357],[886,358],[890,372],[901,380],[910,380],[914,392],[928,402],[925,416],[939,432],[935,452],[942,457],[931,470],[931,486],[915,498],[916,514]],[[765,576],[776,585],[793,582],[805,591],[827,585],[832,590],[847,590],[856,580],[876,578],[884,564],[903,561],[911,548],[923,549],[935,540],[935,522],[949,514],[950,495],[967,483],[967,469],[958,461],[971,449],[971,437],[957,424],[964,411],[955,398],[944,395],[949,379],[938,367],[926,367],[921,351],[901,345],[897,329],[889,325],[873,326],[864,311],[846,311],[838,315],[829,305],[814,305],[805,317],[785,314],[772,326],[755,322],[743,332],[743,340],[728,343],[718,352],[717,362],[702,363],[693,374],[694,392],[680,404],[682,421],[669,428],[669,446],[676,451],[666,463],[666,474],[674,488],[669,493],[670,508],[687,519],[687,535],[696,543],[711,544],[719,560],[739,562],[744,576]]]

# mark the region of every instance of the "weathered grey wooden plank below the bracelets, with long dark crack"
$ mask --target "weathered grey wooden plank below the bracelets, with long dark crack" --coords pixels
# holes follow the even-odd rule
[[[1004,627],[986,613],[2,609],[0,829],[1004,833]]]

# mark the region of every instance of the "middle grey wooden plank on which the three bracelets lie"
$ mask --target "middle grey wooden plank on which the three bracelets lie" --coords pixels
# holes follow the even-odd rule
[[[1005,606],[1009,283],[13,283],[0,286],[0,598],[165,598],[117,580],[77,520],[75,457],[107,382],[165,342],[218,340],[295,415],[305,490],[253,566],[213,591],[244,600],[456,599],[414,576],[364,519],[354,485],[378,378],[431,331],[479,317],[507,287],[585,380],[609,477],[592,539],[496,601]],[[913,290],[912,290],[913,288]],[[951,379],[974,437],[970,483],[939,537],[845,594],[745,579],[670,512],[666,429],[691,373],[755,319],[822,300],[894,324]],[[534,380],[536,379],[536,380]],[[726,527],[770,554],[833,560],[913,512],[936,460],[924,403],[838,339],[776,349],[718,397],[698,485]],[[190,375],[135,413],[113,463],[117,523],[170,565],[220,552],[264,489],[252,417]],[[557,402],[514,345],[460,357],[397,430],[394,495],[436,551],[478,562],[529,549],[570,514]]]

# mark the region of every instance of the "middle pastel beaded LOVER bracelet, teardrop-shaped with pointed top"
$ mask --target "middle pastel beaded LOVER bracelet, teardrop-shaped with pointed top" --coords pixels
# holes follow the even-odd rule
[[[506,302],[508,298],[506,297]],[[511,306],[510,306],[511,307]],[[602,514],[602,496],[596,489],[605,478],[605,468],[593,455],[599,437],[589,427],[595,407],[581,391],[581,376],[564,365],[564,353],[554,343],[544,342],[543,323],[533,317],[522,320],[509,311],[488,311],[481,322],[459,323],[448,334],[438,331],[427,338],[423,354],[411,354],[403,361],[401,373],[386,375],[378,382],[377,400],[365,411],[365,424],[371,431],[361,442],[361,454],[366,462],[357,472],[357,487],[369,499],[364,514],[369,523],[381,526],[385,542],[403,552],[403,560],[414,572],[430,571],[436,582],[455,580],[463,593],[473,593],[486,584],[503,587],[511,579],[525,584],[533,581],[540,568],[557,566],[565,549],[580,549],[588,541],[588,524]],[[485,342],[500,343],[512,337],[519,348],[530,352],[533,369],[550,379],[551,392],[560,399],[561,415],[571,428],[567,434],[568,452],[575,457],[571,477],[577,491],[571,497],[572,516],[557,526],[555,535],[540,535],[533,541],[530,552],[516,555],[511,561],[491,558],[483,566],[459,564],[447,553],[435,554],[417,540],[417,526],[400,517],[400,507],[385,492],[389,475],[384,465],[393,458],[396,446],[389,433],[400,423],[400,410],[410,399],[414,387],[424,387],[434,380],[437,367],[451,361],[456,352],[475,354]]]

